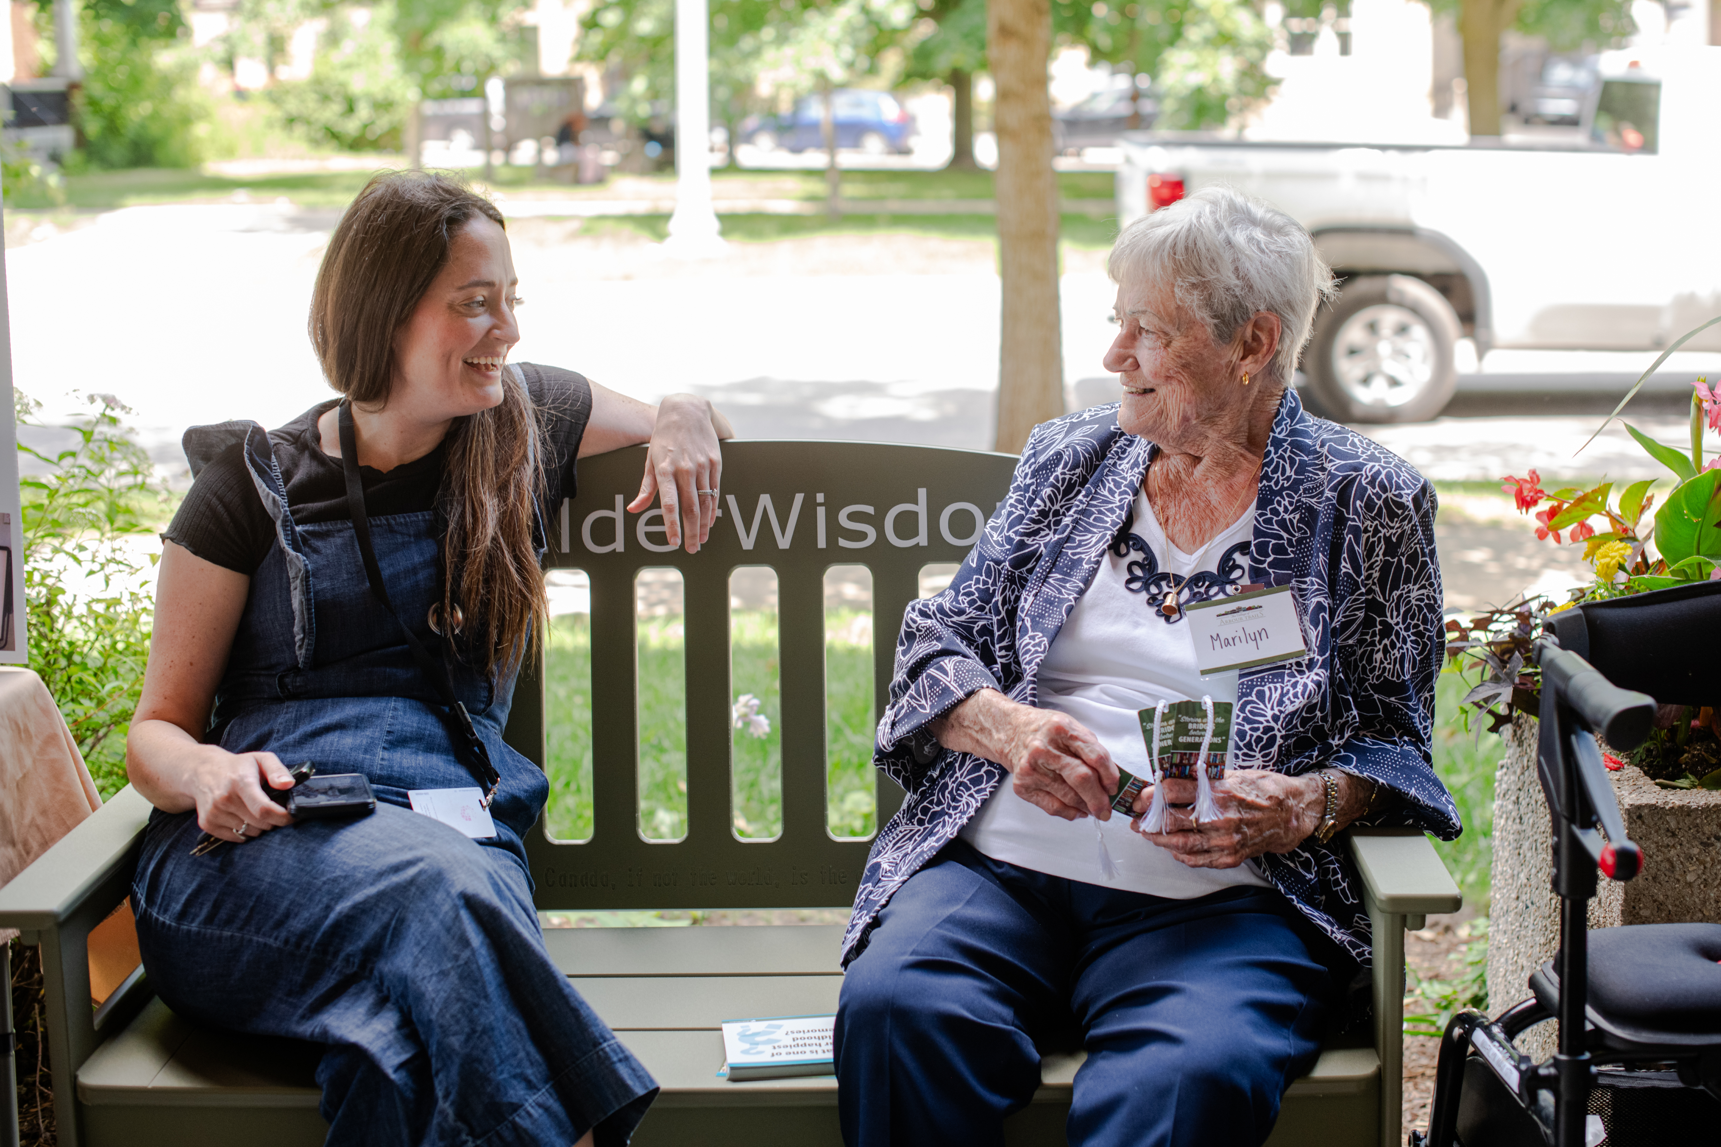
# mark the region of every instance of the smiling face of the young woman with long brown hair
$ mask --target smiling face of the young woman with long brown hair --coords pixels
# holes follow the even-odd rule
[[[477,414],[503,401],[503,363],[520,342],[508,236],[475,217],[449,241],[447,263],[394,335],[389,406],[420,421]]]

